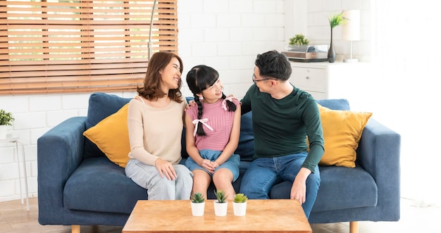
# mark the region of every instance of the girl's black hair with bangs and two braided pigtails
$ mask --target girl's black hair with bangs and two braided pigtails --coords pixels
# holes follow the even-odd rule
[[[196,65],[187,73],[187,84],[190,90],[193,93],[194,101],[196,101],[198,106],[198,114],[197,118],[200,120],[202,117],[202,103],[197,94],[202,94],[204,89],[213,86],[213,84],[218,80],[219,73],[217,70],[207,66],[207,65]],[[222,99],[225,99],[227,96],[222,92]],[[227,101],[228,111],[234,112],[236,111],[235,103],[232,101]],[[204,128],[202,127],[202,123],[199,122],[197,124],[197,132],[199,136],[205,136]]]

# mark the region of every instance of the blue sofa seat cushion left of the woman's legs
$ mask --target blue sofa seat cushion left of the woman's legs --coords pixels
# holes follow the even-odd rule
[[[83,160],[63,190],[64,206],[71,210],[130,214],[137,200],[147,200],[146,189],[105,157]]]

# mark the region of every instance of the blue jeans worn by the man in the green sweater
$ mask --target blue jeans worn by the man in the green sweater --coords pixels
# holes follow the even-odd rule
[[[268,193],[275,184],[283,181],[294,182],[307,155],[308,153],[296,153],[274,158],[257,158],[245,172],[240,192],[249,199],[268,199]],[[314,172],[306,179],[306,201],[302,204],[306,218],[309,218],[316,201],[319,186],[320,171],[317,165]]]

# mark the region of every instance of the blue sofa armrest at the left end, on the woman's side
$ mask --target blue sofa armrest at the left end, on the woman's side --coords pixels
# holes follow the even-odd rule
[[[69,118],[37,140],[39,222],[58,219],[63,208],[63,189],[83,158],[86,117]]]

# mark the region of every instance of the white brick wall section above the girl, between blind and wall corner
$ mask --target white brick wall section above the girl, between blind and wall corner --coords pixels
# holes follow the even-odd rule
[[[285,46],[285,1],[181,0],[178,18],[184,70],[199,64],[216,68],[225,94],[243,96],[256,54]]]

